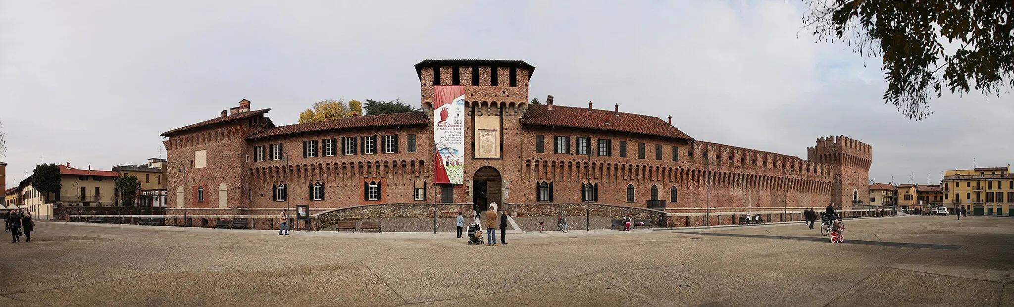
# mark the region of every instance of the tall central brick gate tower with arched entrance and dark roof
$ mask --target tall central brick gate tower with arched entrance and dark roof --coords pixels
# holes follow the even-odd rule
[[[424,60],[416,64],[422,107],[433,119],[431,125],[448,117],[443,113],[446,109],[434,117],[436,86],[459,85],[465,98],[463,180],[461,184],[441,184],[438,194],[453,193],[454,203],[483,204],[482,210],[490,203],[504,204],[511,182],[520,178],[510,177],[517,176],[516,171],[501,174],[507,169],[520,169],[522,161],[518,147],[504,148],[504,144],[521,142],[516,132],[528,107],[528,80],[534,70],[524,61]],[[433,146],[432,138],[423,144]],[[449,174],[455,166],[447,167]],[[433,182],[439,182],[439,174]]]

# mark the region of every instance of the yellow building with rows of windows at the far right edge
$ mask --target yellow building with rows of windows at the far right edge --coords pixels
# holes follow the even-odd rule
[[[969,214],[1014,216],[1014,175],[1006,167],[945,170],[944,205]]]

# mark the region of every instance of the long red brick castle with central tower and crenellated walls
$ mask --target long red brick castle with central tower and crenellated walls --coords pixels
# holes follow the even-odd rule
[[[267,109],[249,110],[244,99],[243,107],[229,114],[223,111],[220,118],[163,134],[168,137],[164,144],[169,214],[180,213],[183,206],[190,212],[260,214],[303,204],[318,212],[370,204],[441,203],[444,186],[430,180],[434,68],[440,84],[465,85],[465,182],[450,185],[455,204],[482,199],[479,186],[486,186],[487,204],[581,203],[586,183],[592,186],[588,196],[595,203],[645,208],[655,196],[658,202],[652,204],[667,212],[781,210],[824,207],[829,202],[849,207],[854,191],[860,201],[867,195],[872,149],[849,138],[818,139],[806,160],[704,142],[661,119],[620,112],[619,106],[529,105],[528,79],[534,68],[521,61],[428,60],[416,65],[423,101],[420,112],[275,127],[264,116]],[[494,69],[496,86],[491,80]],[[475,80],[479,85],[472,85],[473,71],[479,72]],[[476,157],[475,134],[480,126],[485,127],[486,137],[489,131],[499,134],[499,158]],[[383,153],[384,136],[396,136],[391,137],[396,140],[395,152]],[[364,138],[369,137],[374,138],[373,153],[364,152]],[[563,153],[556,153],[557,137],[567,141]],[[352,138],[354,154],[345,154],[346,138]],[[410,138],[415,140],[414,151]],[[579,138],[589,138],[593,154],[578,154]],[[330,156],[325,146],[332,139],[335,149]],[[604,155],[599,155],[599,140],[607,140],[601,141],[607,145]],[[304,142],[313,144],[315,157],[304,156]],[[626,143],[625,156],[621,143]],[[288,155],[287,162],[272,159],[276,144]],[[263,161],[258,159],[261,146]],[[195,160],[200,160],[196,152],[201,150],[206,150],[207,166],[195,168],[199,166]],[[186,182],[180,167],[187,168]],[[379,186],[375,200],[369,196],[371,182]],[[539,199],[541,182],[552,183],[552,200]],[[222,183],[226,202],[219,201]],[[284,184],[288,203],[276,201],[278,184]],[[314,184],[322,187],[322,200],[312,200]],[[203,202],[197,202],[199,186],[204,189]],[[416,198],[417,187],[423,188],[422,200]],[[184,191],[186,204],[177,201]]]

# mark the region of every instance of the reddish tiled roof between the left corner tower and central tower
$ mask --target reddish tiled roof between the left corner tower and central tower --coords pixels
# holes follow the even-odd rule
[[[252,135],[246,139],[259,139],[266,137],[282,136],[304,132],[330,131],[352,128],[384,127],[384,126],[422,126],[429,125],[430,120],[426,118],[426,112],[410,111],[403,113],[351,117],[323,122],[313,122],[306,124],[296,124],[279,126],[265,132]]]

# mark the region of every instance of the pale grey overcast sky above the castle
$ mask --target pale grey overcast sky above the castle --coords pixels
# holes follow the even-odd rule
[[[804,159],[846,135],[873,145],[882,182],[1014,160],[1014,96],[945,95],[910,121],[880,99],[879,60],[814,43],[798,1],[206,2],[0,0],[8,186],[40,155],[142,163],[160,133],[242,98],[276,125],[328,98],[418,105],[423,59],[524,60],[532,97]]]

